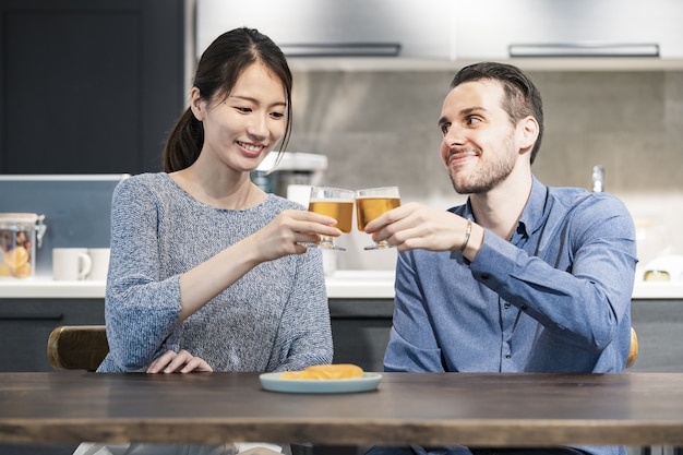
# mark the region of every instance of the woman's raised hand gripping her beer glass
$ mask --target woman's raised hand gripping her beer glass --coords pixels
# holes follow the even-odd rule
[[[320,236],[339,237],[336,219],[305,211],[283,211],[267,226],[251,236],[263,261],[304,253],[301,243],[317,243]]]

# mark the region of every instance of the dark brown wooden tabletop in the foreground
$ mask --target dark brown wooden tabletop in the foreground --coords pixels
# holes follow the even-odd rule
[[[683,374],[384,373],[281,394],[253,373],[0,373],[0,443],[683,445]]]

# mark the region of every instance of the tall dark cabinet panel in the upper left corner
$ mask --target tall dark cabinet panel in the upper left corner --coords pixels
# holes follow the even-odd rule
[[[0,0],[0,173],[160,170],[183,0]]]

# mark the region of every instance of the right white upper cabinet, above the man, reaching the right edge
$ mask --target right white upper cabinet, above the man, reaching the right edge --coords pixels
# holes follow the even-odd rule
[[[651,45],[661,59],[683,57],[683,3],[678,0],[456,0],[454,9],[458,60],[508,59],[514,57],[511,46],[524,52],[517,57],[628,57],[651,50]]]

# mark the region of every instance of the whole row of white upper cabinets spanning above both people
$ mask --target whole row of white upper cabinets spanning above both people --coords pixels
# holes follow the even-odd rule
[[[678,0],[196,0],[194,44],[199,55],[227,28],[257,27],[295,71],[451,72],[480,60],[536,71],[680,70],[682,21]],[[512,58],[512,45],[558,57]],[[643,57],[652,49],[660,57]]]

